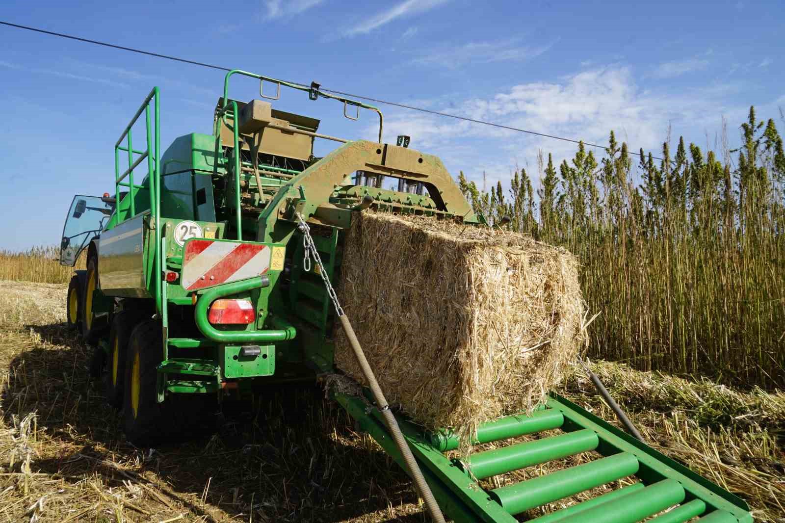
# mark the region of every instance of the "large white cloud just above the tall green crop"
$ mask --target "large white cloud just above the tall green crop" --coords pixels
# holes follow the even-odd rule
[[[637,85],[629,67],[612,65],[579,71],[557,82],[530,82],[512,86],[488,97],[457,101],[451,109],[444,101],[434,110],[471,119],[500,123],[524,130],[583,140],[604,145],[615,130],[617,141],[626,141],[631,152],[644,148],[658,155],[668,126],[673,137],[700,143],[704,130],[718,129],[720,116],[734,122],[736,108],[724,107],[728,95],[739,90],[730,84],[701,86],[677,94],[652,92]],[[741,114],[741,113],[739,113]],[[740,117],[743,117],[741,114]],[[369,127],[366,136],[373,137]],[[553,152],[553,162],[571,159],[576,144],[513,130],[485,126],[413,111],[385,114],[385,141],[394,143],[397,134],[412,138],[411,148],[439,155],[454,175],[458,170],[475,181],[483,171],[488,183],[509,180],[516,164],[527,166],[536,178],[539,149]],[[590,149],[597,157],[602,149]],[[633,162],[637,163],[637,162]]]

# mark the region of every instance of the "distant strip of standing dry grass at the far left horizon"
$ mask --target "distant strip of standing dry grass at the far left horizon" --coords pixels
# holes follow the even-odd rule
[[[80,256],[76,267],[60,265],[57,247],[33,247],[25,252],[0,251],[0,280],[23,280],[37,283],[68,283],[74,269],[85,268]]]

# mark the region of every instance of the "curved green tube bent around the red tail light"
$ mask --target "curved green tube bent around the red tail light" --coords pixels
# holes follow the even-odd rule
[[[285,342],[294,338],[297,334],[294,327],[278,317],[269,318],[269,322],[276,327],[276,330],[273,331],[219,331],[217,328],[210,325],[210,322],[207,320],[207,309],[209,309],[210,304],[218,298],[239,294],[260,287],[267,287],[269,284],[270,282],[265,276],[256,276],[250,278],[250,280],[226,283],[225,285],[213,287],[212,289],[205,291],[205,293],[199,297],[199,301],[196,302],[196,309],[194,311],[196,326],[199,327],[199,331],[201,331],[206,338],[210,338],[218,343]]]

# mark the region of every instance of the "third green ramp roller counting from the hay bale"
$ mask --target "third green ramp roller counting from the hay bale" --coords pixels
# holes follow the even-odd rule
[[[634,455],[620,452],[607,458],[496,488],[489,494],[491,499],[495,499],[509,514],[519,514],[524,510],[635,474],[638,466]]]

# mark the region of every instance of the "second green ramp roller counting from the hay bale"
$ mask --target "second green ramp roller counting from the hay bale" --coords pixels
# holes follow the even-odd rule
[[[597,448],[600,438],[593,430],[584,429],[546,437],[542,440],[527,441],[496,448],[491,451],[473,454],[467,459],[466,466],[471,469],[477,479],[504,474],[510,470],[522,469],[526,466],[538,465],[551,459],[559,459],[568,455],[579,454]]]

